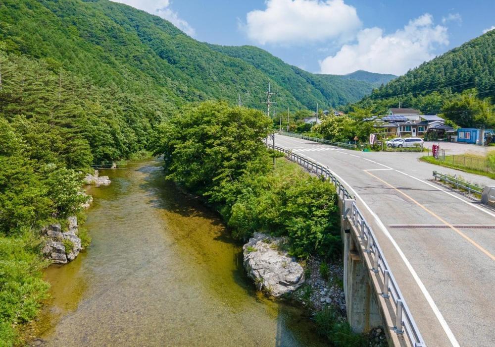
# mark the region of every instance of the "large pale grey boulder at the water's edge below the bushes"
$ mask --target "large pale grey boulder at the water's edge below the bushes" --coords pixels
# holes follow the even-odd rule
[[[255,233],[243,246],[244,267],[258,289],[279,297],[304,283],[304,269],[281,249],[283,237]]]

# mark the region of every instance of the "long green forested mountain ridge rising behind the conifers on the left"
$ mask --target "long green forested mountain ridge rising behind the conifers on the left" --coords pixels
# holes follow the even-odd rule
[[[177,107],[241,94],[263,108],[268,82],[280,109],[355,102],[376,85],[321,78],[256,49],[249,61],[185,35],[160,17],[108,0],[5,0],[0,3],[0,51],[44,59],[92,83],[152,95]],[[265,68],[266,67],[266,68]],[[282,73],[282,75],[280,75]]]

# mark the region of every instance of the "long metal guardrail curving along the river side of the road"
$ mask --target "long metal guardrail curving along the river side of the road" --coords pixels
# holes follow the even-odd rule
[[[322,165],[313,162],[307,158],[304,158],[291,150],[267,144],[268,148],[274,149],[276,151],[285,154],[287,159],[299,164],[303,168],[307,169],[309,172],[316,173],[324,176],[326,179],[332,182],[337,189],[337,194],[339,199],[344,202],[344,218],[347,218],[355,226],[359,232],[359,238],[366,245],[365,252],[368,253],[373,259],[373,268],[371,269],[374,273],[378,274],[382,279],[382,297],[384,299],[391,299],[394,303],[396,321],[394,330],[396,334],[407,336],[409,343],[413,347],[426,347],[426,344],[419,332],[419,329],[412,317],[411,311],[407,306],[405,299],[400,291],[397,281],[392,273],[392,270],[385,259],[382,249],[378,243],[378,240],[369,226],[369,224],[364,219],[362,213],[359,211],[355,198],[349,194],[344,185],[335,177],[330,169],[323,167]],[[347,204],[350,203],[351,206],[348,208]]]

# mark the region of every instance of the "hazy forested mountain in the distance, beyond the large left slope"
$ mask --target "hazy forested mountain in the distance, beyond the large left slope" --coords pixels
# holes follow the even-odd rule
[[[253,46],[219,46],[209,45],[217,52],[233,58],[240,58],[264,72],[277,84],[287,89],[302,105],[312,109],[316,103],[335,107],[355,102],[370,94],[373,88],[388,82],[393,75],[372,74],[376,81],[365,80],[362,76],[322,75],[306,72],[296,66],[285,63],[282,59]],[[362,71],[364,74],[370,72]],[[363,75],[364,75],[363,74]],[[382,76],[380,83],[376,83]],[[393,76],[396,77],[396,76]],[[385,81],[385,82],[383,82]],[[322,100],[325,100],[322,103]]]

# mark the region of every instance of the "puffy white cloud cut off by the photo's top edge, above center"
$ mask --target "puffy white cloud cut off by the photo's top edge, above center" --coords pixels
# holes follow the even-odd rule
[[[266,9],[247,13],[250,40],[265,44],[306,44],[352,39],[361,26],[344,0],[266,0]]]

